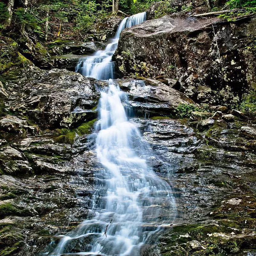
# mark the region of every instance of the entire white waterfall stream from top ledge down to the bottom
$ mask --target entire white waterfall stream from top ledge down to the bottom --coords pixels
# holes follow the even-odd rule
[[[134,17],[123,20],[116,38],[123,28],[139,22],[134,21]],[[116,49],[116,38],[105,52],[108,48]],[[104,58],[108,59],[107,54]],[[89,59],[85,63],[87,68]],[[94,76],[93,72],[96,74],[96,67],[100,72],[97,77],[112,76],[113,73],[108,74],[108,64],[112,62],[90,63],[95,64],[88,68],[90,76]],[[99,120],[95,125],[95,148],[101,168],[94,173],[90,217],[66,236],[60,236],[50,255],[68,255],[68,245],[79,240],[83,252],[77,255],[139,256],[141,248],[154,243],[158,231],[175,217],[172,188],[150,166],[154,153],[137,126],[128,119],[124,108],[126,100],[125,93],[109,79],[108,86],[101,91]]]

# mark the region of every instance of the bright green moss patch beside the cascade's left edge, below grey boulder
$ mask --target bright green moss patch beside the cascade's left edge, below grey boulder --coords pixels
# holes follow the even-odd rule
[[[57,137],[55,140],[59,143],[73,144],[75,142],[76,134],[79,136],[89,134],[92,131],[92,127],[97,119],[93,119],[89,122],[83,123],[76,129],[59,129],[57,130]]]

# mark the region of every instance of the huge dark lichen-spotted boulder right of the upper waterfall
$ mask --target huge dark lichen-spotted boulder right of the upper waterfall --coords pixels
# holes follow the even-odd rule
[[[166,15],[125,29],[114,59],[122,75],[175,78],[194,100],[236,104],[255,86],[255,25]]]

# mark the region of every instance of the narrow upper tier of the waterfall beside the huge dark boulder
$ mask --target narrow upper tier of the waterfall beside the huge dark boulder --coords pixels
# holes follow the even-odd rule
[[[86,77],[93,77],[98,80],[108,80],[114,78],[115,62],[112,56],[116,51],[120,33],[124,28],[129,28],[140,24],[146,20],[146,12],[132,15],[121,21],[114,38],[107,45],[104,51],[97,51],[90,57],[81,58],[76,65],[76,72]]]

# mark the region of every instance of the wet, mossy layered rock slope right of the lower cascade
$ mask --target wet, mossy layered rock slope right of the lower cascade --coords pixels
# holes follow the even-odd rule
[[[158,173],[173,180],[179,195],[180,218],[160,238],[161,255],[245,256],[254,252],[255,154],[252,149],[237,151],[235,147],[241,146],[241,140],[251,143],[250,139],[238,131],[234,135],[230,123],[224,129],[214,121],[209,131],[198,132],[168,118],[134,121],[143,124],[144,138],[172,165],[172,173],[161,167]],[[215,136],[219,143],[211,144],[208,140]]]

